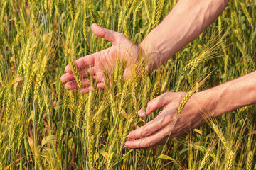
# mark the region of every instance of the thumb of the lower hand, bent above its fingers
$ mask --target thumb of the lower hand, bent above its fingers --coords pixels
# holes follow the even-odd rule
[[[166,105],[166,97],[167,97],[166,94],[161,94],[160,96],[152,99],[147,103],[146,113],[144,111],[144,108],[142,108],[141,110],[138,111],[138,115],[140,117],[144,117],[146,115],[149,115],[156,109],[164,107]]]

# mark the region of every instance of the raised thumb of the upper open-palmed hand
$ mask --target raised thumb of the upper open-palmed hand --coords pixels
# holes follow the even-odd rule
[[[92,28],[92,32],[95,33],[95,35],[97,35],[98,37],[104,38],[105,40],[108,40],[112,43],[115,42],[115,40],[117,39],[117,35],[119,35],[119,33],[113,30],[108,30],[106,28],[97,26],[96,23],[93,23],[91,28]]]

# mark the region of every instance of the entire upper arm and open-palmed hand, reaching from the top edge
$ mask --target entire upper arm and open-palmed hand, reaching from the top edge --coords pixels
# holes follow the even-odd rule
[[[224,10],[228,0],[179,0],[173,10],[164,18],[159,26],[151,30],[149,35],[139,45],[146,54],[149,71],[153,71],[164,64],[182,47],[194,40],[207,26],[210,25]],[[102,69],[113,71],[113,63],[117,54],[121,60],[127,60],[124,78],[131,77],[134,62],[139,61],[139,47],[134,45],[122,33],[100,28],[92,25],[92,31],[99,37],[112,42],[112,47],[81,57],[75,61],[82,80],[83,92],[93,91],[90,83],[85,79],[87,72],[94,75],[97,89],[105,88],[105,79]],[[127,55],[127,51],[129,54]],[[90,67],[90,69],[87,69]],[[71,74],[69,66],[65,68],[66,74],[60,78],[65,83],[65,89],[76,89],[78,84]]]

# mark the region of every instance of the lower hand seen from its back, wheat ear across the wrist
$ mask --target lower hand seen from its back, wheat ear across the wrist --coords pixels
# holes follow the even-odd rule
[[[128,138],[124,144],[124,148],[153,147],[168,139],[173,126],[174,129],[171,132],[170,139],[183,135],[201,125],[205,119],[201,115],[201,108],[199,108],[201,107],[199,104],[203,102],[199,101],[201,98],[198,97],[198,94],[191,96],[178,116],[176,125],[174,125],[177,118],[178,106],[185,95],[186,92],[169,92],[161,94],[161,96],[149,101],[146,112],[144,112],[143,108],[138,112],[140,117],[149,115],[158,108],[163,108],[163,111],[154,120],[131,131],[127,136]]]

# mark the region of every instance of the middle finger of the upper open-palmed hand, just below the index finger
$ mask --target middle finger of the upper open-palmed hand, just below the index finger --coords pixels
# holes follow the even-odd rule
[[[80,69],[78,72],[80,79],[85,79],[87,77],[87,72],[89,72],[92,75],[95,75],[95,73],[98,72],[98,70],[95,69],[95,67],[90,67],[88,69]],[[60,81],[62,81],[63,83],[67,83],[68,81],[73,81],[73,80],[75,80],[75,78],[73,74],[70,72],[63,74],[60,77]]]

